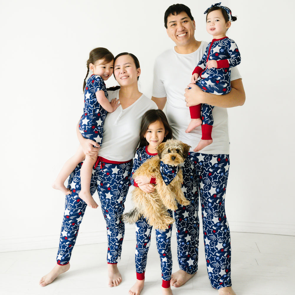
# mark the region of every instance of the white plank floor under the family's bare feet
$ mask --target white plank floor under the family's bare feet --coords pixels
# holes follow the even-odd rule
[[[160,261],[152,234],[142,295],[161,294]],[[176,237],[172,238],[173,271],[178,270]],[[203,242],[200,240],[199,270],[174,295],[218,294],[209,283]],[[231,232],[232,286],[237,295],[295,294],[294,236]],[[57,249],[0,253],[0,294],[128,294],[135,282],[135,241],[124,241],[118,264],[123,281],[107,286],[106,244],[76,246],[71,268],[46,287],[39,279],[55,266]]]

